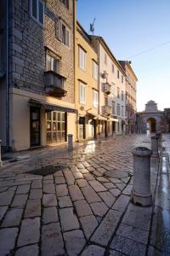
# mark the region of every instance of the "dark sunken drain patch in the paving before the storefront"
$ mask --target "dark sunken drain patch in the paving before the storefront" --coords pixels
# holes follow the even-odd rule
[[[34,175],[41,175],[41,176],[47,176],[50,174],[54,174],[54,172],[59,172],[65,169],[66,166],[45,166],[40,169],[34,169],[29,172],[26,172],[28,174],[34,174]]]

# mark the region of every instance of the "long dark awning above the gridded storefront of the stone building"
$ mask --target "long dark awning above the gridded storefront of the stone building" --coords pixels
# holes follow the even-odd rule
[[[66,108],[59,105],[48,104],[47,102],[38,102],[30,99],[29,105],[37,108],[45,108],[47,111],[60,111],[67,113],[77,113],[77,109],[75,108]]]

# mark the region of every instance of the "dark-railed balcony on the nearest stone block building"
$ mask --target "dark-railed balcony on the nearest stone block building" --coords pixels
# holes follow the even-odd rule
[[[46,71],[46,93],[48,96],[64,97],[67,91],[65,90],[65,77],[53,71]]]

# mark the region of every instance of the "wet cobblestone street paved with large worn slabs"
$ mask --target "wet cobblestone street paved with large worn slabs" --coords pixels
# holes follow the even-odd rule
[[[169,139],[166,135],[168,150]],[[65,146],[42,148],[16,154],[18,161],[4,163],[0,255],[170,255],[169,239],[164,252],[163,242],[157,247],[153,239],[157,208],[130,202],[131,149],[137,146],[150,148],[150,137],[110,137],[101,143],[79,143],[71,152]],[[158,169],[159,161],[151,159],[153,197]],[[168,175],[161,179],[167,190],[168,179]],[[166,234],[169,237],[168,230]]]

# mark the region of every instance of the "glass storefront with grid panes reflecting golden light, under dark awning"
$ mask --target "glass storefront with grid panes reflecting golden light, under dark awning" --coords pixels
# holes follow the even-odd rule
[[[66,142],[66,113],[47,112],[47,144]]]

